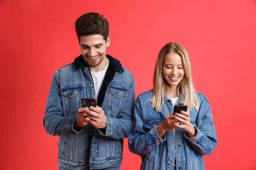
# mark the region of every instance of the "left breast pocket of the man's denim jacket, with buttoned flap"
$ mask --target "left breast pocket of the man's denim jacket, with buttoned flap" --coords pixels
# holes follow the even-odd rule
[[[68,115],[76,114],[77,109],[80,108],[82,88],[63,88],[61,89],[61,97],[64,109],[67,110]]]

